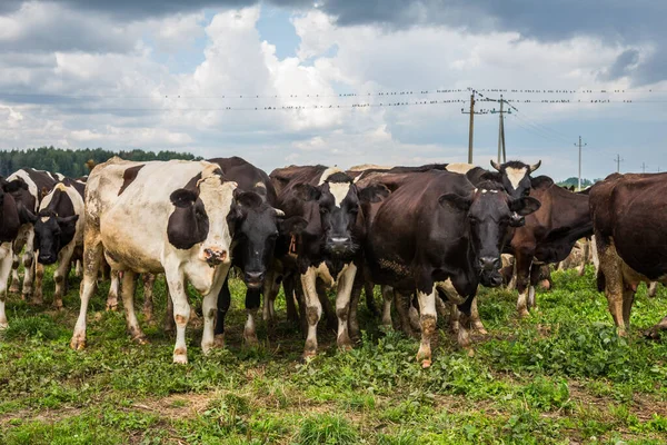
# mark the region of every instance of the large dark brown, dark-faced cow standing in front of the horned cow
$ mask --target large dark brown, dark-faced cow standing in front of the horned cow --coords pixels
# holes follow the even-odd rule
[[[390,179],[388,175],[380,182]],[[366,258],[375,283],[401,295],[417,291],[421,325],[417,359],[422,367],[431,365],[436,293],[458,305],[458,340],[468,347],[478,285],[502,283],[500,253],[512,212],[526,216],[538,208],[537,199],[512,199],[497,182],[474,186],[462,175],[437,170],[415,175],[382,201],[368,233]]]

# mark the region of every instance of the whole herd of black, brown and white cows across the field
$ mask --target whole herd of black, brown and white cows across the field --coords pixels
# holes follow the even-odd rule
[[[53,305],[62,307],[73,264],[82,275],[81,308],[71,347],[86,346],[87,309],[100,274],[110,270],[108,308],[122,296],[128,330],[145,342],[135,313],[137,277],[146,288],[165,274],[176,327],[175,363],[187,363],[186,326],[190,283],[203,297],[201,348],[225,342],[230,307],[228,273],[247,285],[243,337],[257,342],[255,323],[275,317],[282,286],[287,316],[300,323],[303,357],[317,353],[322,314],[347,349],[359,337],[357,306],[362,289],[369,309],[381,286],[381,323],[391,325],[396,304],[401,329],[420,330],[417,354],[431,364],[430,338],[438,312],[450,306],[459,344],[470,330],[485,333],[477,312],[479,285],[502,285],[501,255],[514,256],[519,316],[535,307],[540,265],[568,257],[581,238],[594,237],[598,287],[606,291],[619,334],[625,334],[640,281],[667,283],[667,174],[611,175],[574,192],[539,168],[510,161],[494,170],[465,164],[421,167],[290,166],[270,175],[246,160],[132,162],[112,158],[89,177],[21,169],[0,179],[0,328],[7,285],[42,303],[43,265],[58,263]],[[37,259],[37,260],[34,260]],[[511,274],[510,274],[511,275]],[[331,307],[327,290],[335,288]],[[438,310],[440,309],[440,310]],[[418,322],[415,314],[418,313]],[[667,317],[650,330],[667,329]]]

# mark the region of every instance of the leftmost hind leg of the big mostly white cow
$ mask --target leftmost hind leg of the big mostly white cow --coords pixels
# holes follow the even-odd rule
[[[88,303],[97,288],[97,275],[102,261],[102,243],[99,233],[93,233],[92,229],[87,229],[83,248],[83,280],[81,281],[79,295],[81,299],[81,308],[79,309],[79,318],[74,326],[70,347],[72,349],[86,348],[86,316],[88,314]]]

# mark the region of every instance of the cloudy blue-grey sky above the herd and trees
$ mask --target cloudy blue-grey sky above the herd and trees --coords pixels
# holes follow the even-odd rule
[[[585,178],[617,156],[624,172],[665,171],[666,13],[649,0],[3,0],[0,149],[177,150],[267,171],[461,162],[476,89],[477,110],[512,101],[508,159],[577,176],[581,136]],[[496,158],[498,122],[475,116],[475,164]]]

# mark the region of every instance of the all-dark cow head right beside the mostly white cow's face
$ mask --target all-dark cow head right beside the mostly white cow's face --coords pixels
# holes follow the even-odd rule
[[[246,285],[259,288],[273,257],[285,214],[266,201],[266,189],[262,188],[253,191],[236,189],[233,197],[228,221],[233,225],[235,264],[242,266]]]

